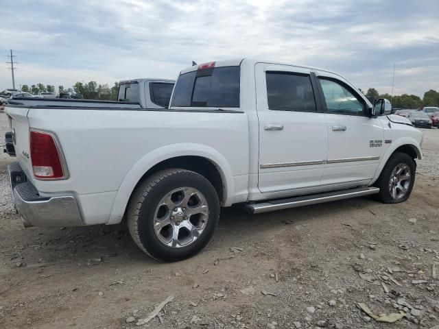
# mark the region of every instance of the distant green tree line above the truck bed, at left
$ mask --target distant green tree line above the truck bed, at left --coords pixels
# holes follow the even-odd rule
[[[119,85],[117,82],[110,87],[108,84],[97,84],[95,81],[91,82],[76,82],[72,88],[64,88],[64,86],[55,86],[51,84],[32,84],[29,86],[23,84],[21,90],[25,93],[31,93],[33,95],[38,95],[38,93],[76,93],[81,94],[84,99],[102,99],[102,100],[112,100],[117,99],[117,92],[119,90]]]

